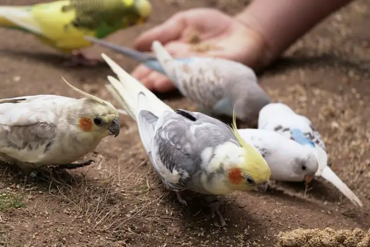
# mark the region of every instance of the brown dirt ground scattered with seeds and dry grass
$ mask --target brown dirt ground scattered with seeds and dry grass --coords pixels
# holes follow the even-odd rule
[[[37,0],[0,0],[29,4]],[[144,30],[180,9],[218,7],[235,13],[247,1],[152,0],[151,20],[120,31],[108,40],[132,45]],[[274,246],[280,231],[296,228],[370,228],[370,2],[355,1],[299,40],[261,75],[274,100],[306,115],[323,135],[333,170],[364,203],[357,208],[329,183],[315,180],[304,196],[303,184],[278,183],[265,194],[235,193],[223,198],[223,229],[209,210],[181,206],[165,191],[142,150],[133,121],[122,117],[122,132],[106,138],[89,157],[94,165],[36,183],[1,166],[0,199],[12,200],[0,211],[3,246]],[[284,35],[284,34],[282,34]],[[63,57],[33,36],[0,30],[0,97],[32,94],[77,96],[61,81],[102,98],[106,66],[66,69]],[[100,47],[88,49],[99,55]],[[131,71],[136,65],[104,50]],[[173,107],[190,107],[177,96]],[[185,105],[185,106],[184,106]],[[71,174],[71,175],[69,175]],[[14,208],[17,206],[24,206]]]

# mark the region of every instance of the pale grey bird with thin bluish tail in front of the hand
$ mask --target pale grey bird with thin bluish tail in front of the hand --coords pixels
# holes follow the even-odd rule
[[[86,39],[166,75],[185,97],[197,105],[198,111],[209,116],[232,117],[235,109],[237,119],[253,126],[257,125],[259,110],[271,102],[259,86],[255,72],[241,63],[209,57],[175,59],[158,41],[152,43],[154,57],[92,37]]]

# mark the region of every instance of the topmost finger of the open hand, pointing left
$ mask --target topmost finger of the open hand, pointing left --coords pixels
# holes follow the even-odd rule
[[[135,48],[140,51],[150,51],[151,43],[155,40],[165,44],[180,38],[185,29],[185,18],[182,13],[177,13],[159,26],[156,26],[135,41]]]

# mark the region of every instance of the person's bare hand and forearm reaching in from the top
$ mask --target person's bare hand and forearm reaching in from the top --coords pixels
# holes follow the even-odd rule
[[[316,24],[351,0],[253,0],[242,12],[229,16],[212,8],[178,12],[139,36],[135,48],[151,51],[160,41],[175,57],[208,56],[241,62],[260,72]],[[212,49],[191,49],[189,37],[198,34]],[[284,35],[282,35],[284,34]],[[132,76],[148,89],[168,92],[174,84],[164,75],[139,65]]]

